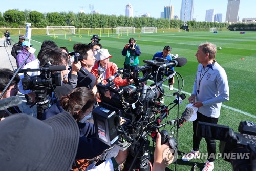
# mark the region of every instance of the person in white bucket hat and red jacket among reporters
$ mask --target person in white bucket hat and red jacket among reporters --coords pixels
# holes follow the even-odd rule
[[[112,58],[112,55],[109,54],[108,49],[97,50],[96,60],[98,62],[93,66],[91,73],[95,75],[95,77],[98,77],[100,73],[99,71],[101,71],[103,84],[108,84],[106,79],[113,76],[118,69],[115,63],[110,62],[110,58]],[[113,80],[113,82],[115,83],[116,87],[119,88],[118,86],[126,86],[133,83],[133,79],[122,79],[120,76],[118,76]]]

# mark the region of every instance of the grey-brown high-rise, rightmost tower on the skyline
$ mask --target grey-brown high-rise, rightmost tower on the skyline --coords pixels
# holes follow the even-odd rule
[[[228,0],[226,21],[237,22],[240,0]]]

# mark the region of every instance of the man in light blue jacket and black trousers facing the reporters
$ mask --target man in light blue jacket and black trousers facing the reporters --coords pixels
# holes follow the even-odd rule
[[[216,45],[203,43],[198,46],[195,54],[198,62],[192,95],[189,103],[198,107],[197,119],[193,121],[193,150],[182,157],[183,161],[200,158],[199,146],[202,137],[196,136],[198,121],[217,124],[220,116],[222,102],[229,100],[229,87],[225,70],[215,60]],[[216,142],[205,138],[207,144],[207,161],[204,170],[214,169],[216,155]]]

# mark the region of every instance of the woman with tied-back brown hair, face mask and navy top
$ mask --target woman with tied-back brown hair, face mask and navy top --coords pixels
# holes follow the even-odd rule
[[[45,120],[63,111],[68,111],[77,120],[80,139],[76,159],[92,159],[109,148],[108,145],[97,139],[94,124],[85,121],[90,118],[95,100],[92,90],[78,87],[66,96],[62,96],[42,116],[42,120]]]

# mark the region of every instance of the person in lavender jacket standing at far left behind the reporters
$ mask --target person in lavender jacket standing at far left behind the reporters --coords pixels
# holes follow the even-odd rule
[[[23,61],[26,59],[27,55],[29,54],[29,48],[32,47],[29,41],[23,41],[22,43],[22,51],[17,55],[17,67],[19,67]],[[25,61],[25,64],[34,61],[35,55],[30,54],[29,58]],[[25,64],[22,66],[22,68],[25,66]]]

